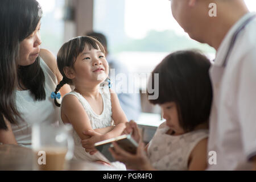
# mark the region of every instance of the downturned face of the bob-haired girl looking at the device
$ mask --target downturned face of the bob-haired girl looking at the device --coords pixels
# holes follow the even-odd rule
[[[170,129],[175,131],[175,135],[184,134],[185,131],[180,127],[179,114],[175,102],[166,102],[160,105],[163,111],[163,118],[166,119],[166,124]]]

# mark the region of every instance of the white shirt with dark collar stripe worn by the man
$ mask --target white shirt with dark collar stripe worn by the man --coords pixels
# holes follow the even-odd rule
[[[228,32],[210,68],[213,105],[208,150],[216,151],[217,164],[208,169],[251,169],[256,154],[256,18],[240,32],[223,65],[234,32],[255,13],[243,16]]]

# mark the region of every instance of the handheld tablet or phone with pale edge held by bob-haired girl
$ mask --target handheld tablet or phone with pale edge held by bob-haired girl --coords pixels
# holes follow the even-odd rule
[[[117,142],[119,147],[121,147],[123,150],[127,152],[130,152],[131,154],[136,154],[137,152],[138,143],[131,137],[130,134],[121,135],[115,138],[110,138],[110,139],[95,143],[94,147],[98,151],[100,151],[101,154],[104,155],[105,158],[109,160],[109,162],[116,161],[109,151],[109,147],[113,147],[112,142]]]

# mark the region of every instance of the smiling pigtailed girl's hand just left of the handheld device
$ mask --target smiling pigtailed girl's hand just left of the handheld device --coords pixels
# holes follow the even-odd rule
[[[97,152],[96,148],[94,147],[94,143],[100,142],[102,140],[102,134],[97,133],[94,130],[87,130],[84,131],[85,135],[89,135],[89,139],[81,140],[82,147],[85,148],[86,152],[89,152],[90,155],[93,155]]]

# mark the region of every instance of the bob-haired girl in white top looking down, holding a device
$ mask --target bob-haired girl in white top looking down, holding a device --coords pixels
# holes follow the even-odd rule
[[[139,142],[136,155],[116,143],[115,159],[135,170],[204,170],[207,168],[208,119],[212,103],[210,61],[194,51],[168,55],[152,72],[159,74],[159,97],[151,104],[162,107],[166,119],[144,148],[135,122],[127,123]],[[157,81],[157,80],[154,80]],[[154,88],[156,90],[156,88]],[[153,93],[155,94],[155,93]]]

